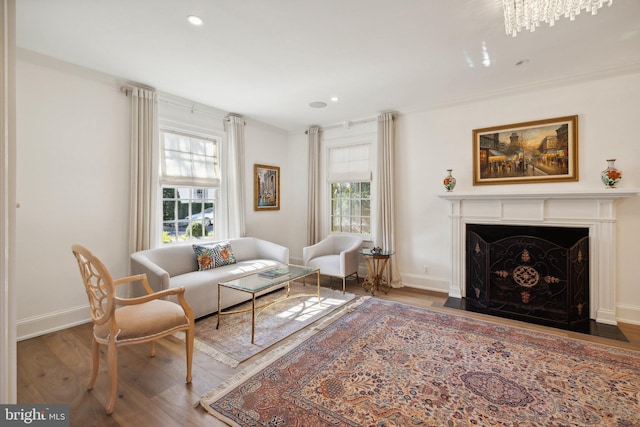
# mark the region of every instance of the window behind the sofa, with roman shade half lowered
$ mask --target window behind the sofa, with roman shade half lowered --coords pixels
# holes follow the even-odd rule
[[[161,141],[162,242],[213,237],[218,139],[162,130]]]

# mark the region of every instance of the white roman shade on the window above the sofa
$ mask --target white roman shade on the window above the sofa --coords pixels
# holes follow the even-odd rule
[[[162,185],[218,187],[218,141],[163,130]]]

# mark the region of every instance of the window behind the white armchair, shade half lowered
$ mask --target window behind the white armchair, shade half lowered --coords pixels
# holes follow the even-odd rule
[[[371,143],[328,148],[331,233],[371,239]]]

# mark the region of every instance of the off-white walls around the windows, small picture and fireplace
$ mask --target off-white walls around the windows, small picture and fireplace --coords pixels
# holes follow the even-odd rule
[[[69,246],[92,249],[114,276],[128,272],[129,98],[118,79],[40,55],[17,55],[18,337],[88,320],[86,296]],[[504,190],[601,188],[599,172],[616,157],[621,186],[640,187],[637,154],[640,74],[532,91],[428,111],[396,122],[397,260],[407,285],[446,292],[449,219],[442,178],[473,187],[475,128],[579,115],[575,183],[511,185]],[[246,231],[283,244],[300,262],[306,244],[307,136],[252,123],[245,128]],[[253,165],[280,166],[279,211],[253,211]],[[612,190],[615,191],[615,190]],[[618,320],[640,324],[634,269],[640,197],[618,204]],[[424,273],[424,266],[429,273]]]

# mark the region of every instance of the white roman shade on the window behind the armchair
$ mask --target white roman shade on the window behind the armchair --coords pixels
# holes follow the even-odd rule
[[[371,181],[371,144],[329,148],[329,182]]]

